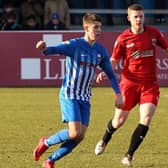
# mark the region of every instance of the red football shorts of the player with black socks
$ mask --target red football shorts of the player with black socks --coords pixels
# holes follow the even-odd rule
[[[123,110],[130,111],[137,104],[152,103],[157,106],[159,86],[156,82],[132,82],[123,80],[120,83],[124,99]]]

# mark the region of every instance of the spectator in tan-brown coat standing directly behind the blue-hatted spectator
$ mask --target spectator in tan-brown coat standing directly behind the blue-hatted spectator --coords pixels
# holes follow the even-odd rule
[[[66,0],[46,0],[44,4],[44,26],[48,24],[52,13],[58,13],[67,28],[70,26],[69,6]]]

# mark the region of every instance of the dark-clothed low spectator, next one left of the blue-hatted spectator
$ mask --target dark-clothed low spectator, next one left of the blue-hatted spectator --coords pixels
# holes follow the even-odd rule
[[[25,19],[23,29],[24,30],[41,30],[42,28],[38,24],[36,20],[36,16],[30,15]]]

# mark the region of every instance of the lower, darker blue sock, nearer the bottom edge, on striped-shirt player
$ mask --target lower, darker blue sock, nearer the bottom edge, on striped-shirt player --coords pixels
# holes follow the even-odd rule
[[[61,159],[63,156],[70,153],[80,142],[75,140],[68,140],[64,142],[59,149],[57,149],[48,159],[55,162]]]

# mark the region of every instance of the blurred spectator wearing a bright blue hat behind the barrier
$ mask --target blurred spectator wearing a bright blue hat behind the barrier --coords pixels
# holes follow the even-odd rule
[[[46,30],[67,30],[67,27],[64,23],[61,22],[60,16],[58,13],[53,13],[50,21],[45,26]]]

